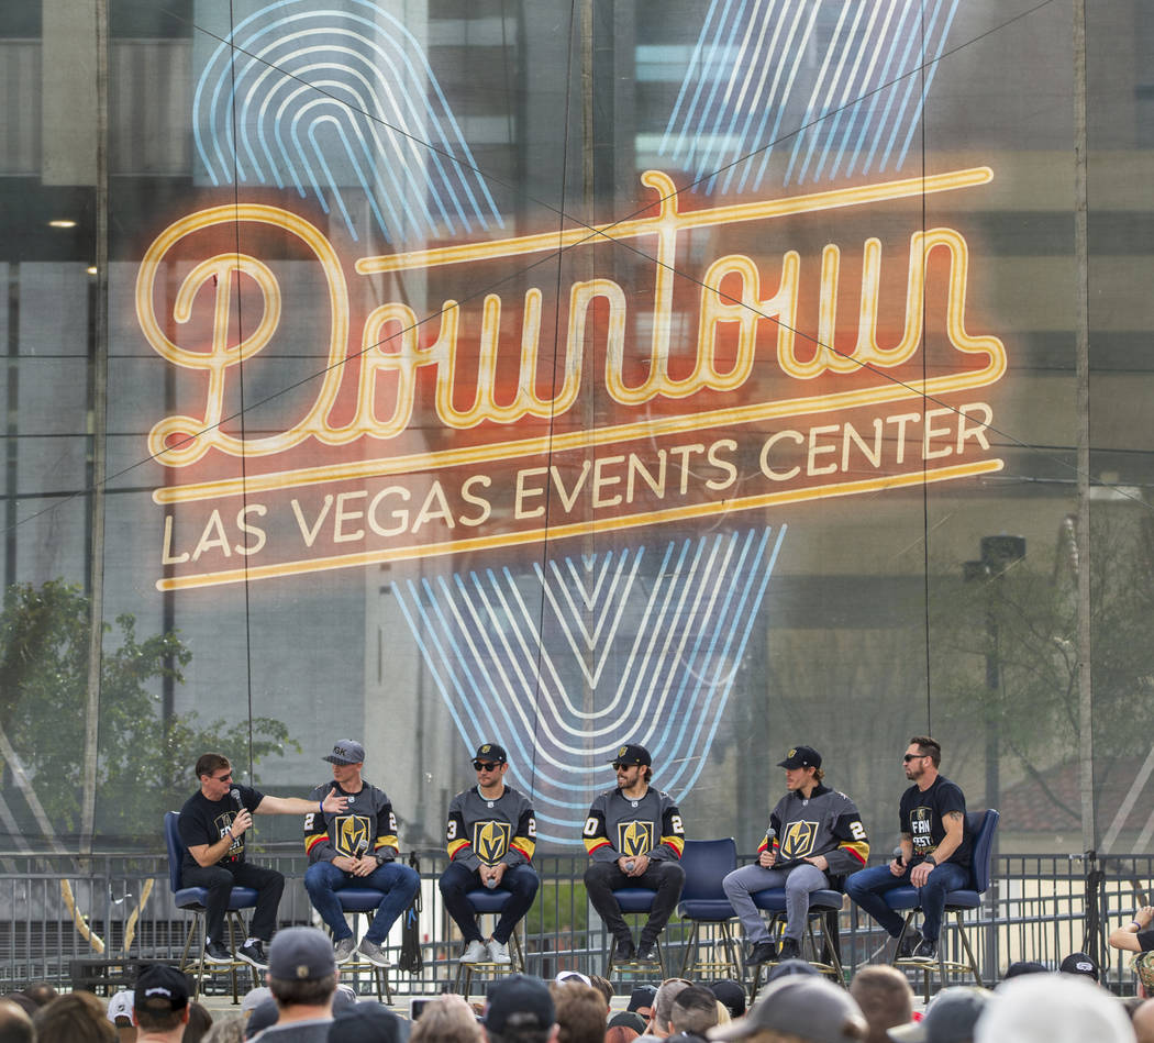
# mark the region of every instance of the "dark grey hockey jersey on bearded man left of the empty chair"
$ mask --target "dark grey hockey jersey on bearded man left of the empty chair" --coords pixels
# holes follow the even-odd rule
[[[583,840],[594,862],[616,862],[622,855],[649,855],[653,862],[681,858],[685,827],[667,793],[650,787],[634,800],[607,789],[593,801]]]

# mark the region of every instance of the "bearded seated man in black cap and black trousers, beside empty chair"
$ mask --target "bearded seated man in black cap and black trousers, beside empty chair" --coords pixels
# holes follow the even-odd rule
[[[619,748],[612,765],[617,773],[617,786],[593,801],[585,819],[583,840],[592,860],[585,870],[585,887],[593,908],[613,935],[614,960],[652,960],[658,936],[685,883],[685,871],[681,868],[685,828],[673,797],[650,786],[653,768],[645,746],[625,743]],[[613,895],[622,887],[657,892],[636,948]]]

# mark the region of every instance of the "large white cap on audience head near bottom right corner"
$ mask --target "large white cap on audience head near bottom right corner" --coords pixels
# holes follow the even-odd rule
[[[990,997],[975,1043],[1133,1043],[1122,1004],[1072,974],[1028,974],[1004,982]]]

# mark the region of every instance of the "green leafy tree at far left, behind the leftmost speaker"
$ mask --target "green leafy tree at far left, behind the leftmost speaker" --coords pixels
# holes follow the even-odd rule
[[[40,587],[15,584],[5,592],[0,615],[0,734],[27,773],[31,793],[58,839],[78,828],[84,735],[88,599],[76,586],[50,580]],[[164,718],[152,691],[164,677],[183,681],[192,652],[177,632],[137,638],[130,614],[106,636],[100,666],[97,766],[97,833],[122,843],[159,835],[165,810],[190,791],[192,765],[205,750],[237,764],[299,750],[287,728],[268,718],[227,726],[202,725],[195,712]]]

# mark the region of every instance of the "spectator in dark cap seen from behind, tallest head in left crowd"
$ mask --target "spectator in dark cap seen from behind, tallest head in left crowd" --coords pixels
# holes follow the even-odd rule
[[[278,931],[269,946],[267,977],[277,1003],[277,1020],[252,1038],[262,1043],[327,1043],[337,960],[324,932],[316,928]]]

